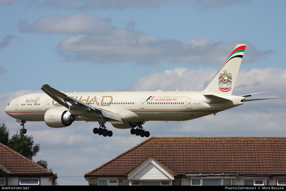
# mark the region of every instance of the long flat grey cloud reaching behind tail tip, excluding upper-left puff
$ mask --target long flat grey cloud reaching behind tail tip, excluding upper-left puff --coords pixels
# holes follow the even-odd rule
[[[205,39],[196,39],[196,42],[200,40],[205,42]],[[221,64],[241,43],[210,42],[196,45],[174,39],[156,39],[141,32],[116,28],[108,35],[70,35],[61,40],[57,48],[67,61]],[[255,62],[273,53],[271,50],[258,50],[253,45],[247,45],[247,51],[244,63]]]

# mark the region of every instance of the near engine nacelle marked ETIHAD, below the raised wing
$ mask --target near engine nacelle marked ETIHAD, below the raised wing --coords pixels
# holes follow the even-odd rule
[[[72,116],[67,110],[63,110],[62,108],[49,109],[44,116],[47,126],[53,128],[70,126],[75,119],[75,116]]]

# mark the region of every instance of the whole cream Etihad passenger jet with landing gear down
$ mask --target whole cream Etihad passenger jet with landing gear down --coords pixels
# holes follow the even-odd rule
[[[203,91],[130,91],[130,92],[62,92],[48,84],[44,93],[22,95],[12,100],[5,112],[21,123],[26,133],[26,121],[45,121],[53,128],[67,127],[75,120],[98,122],[94,134],[111,137],[105,126],[111,122],[119,129],[130,128],[132,135],[149,137],[142,127],[146,121],[186,121],[216,114],[248,101],[273,98],[245,99],[232,95],[246,44],[238,44]],[[265,92],[259,92],[265,93]]]

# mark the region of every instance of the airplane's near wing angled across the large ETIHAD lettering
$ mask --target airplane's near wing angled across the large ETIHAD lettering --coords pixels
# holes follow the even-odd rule
[[[53,100],[61,104],[63,107],[69,109],[69,112],[75,116],[80,115],[83,112],[88,112],[98,119],[99,124],[104,124],[104,117],[122,122],[120,115],[69,97],[68,95],[65,95],[64,93],[52,88],[48,84],[43,85],[41,90],[43,90],[47,95],[49,95]]]

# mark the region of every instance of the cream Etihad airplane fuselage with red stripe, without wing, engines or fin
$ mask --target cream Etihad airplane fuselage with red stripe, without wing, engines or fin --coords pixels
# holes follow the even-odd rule
[[[207,93],[201,91],[69,92],[65,94],[91,106],[119,114],[122,121],[129,122],[191,120],[239,106],[244,104],[241,100],[245,99],[240,96],[217,94],[231,101],[208,104],[203,95]],[[20,120],[44,121],[47,110],[60,107],[62,106],[47,94],[32,93],[12,100],[5,108],[5,112]],[[76,120],[97,121],[96,117],[87,112],[76,116]]]

